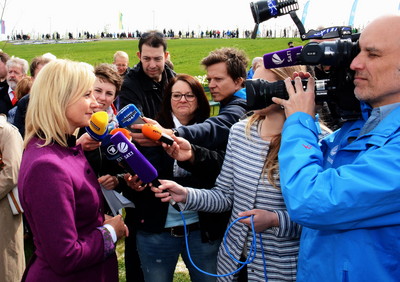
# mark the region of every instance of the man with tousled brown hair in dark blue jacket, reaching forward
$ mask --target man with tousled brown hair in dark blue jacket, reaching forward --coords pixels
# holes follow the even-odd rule
[[[208,86],[215,102],[220,104],[217,116],[205,122],[178,129],[162,129],[168,135],[183,137],[191,144],[211,150],[225,150],[231,126],[238,122],[247,111],[246,67],[247,55],[237,48],[220,48],[211,51],[201,64],[207,71]],[[145,114],[147,117],[147,115]],[[141,125],[132,128],[140,129]],[[133,140],[141,146],[155,146],[156,143],[141,133],[133,133]]]

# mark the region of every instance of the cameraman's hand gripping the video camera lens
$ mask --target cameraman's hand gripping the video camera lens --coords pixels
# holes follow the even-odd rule
[[[308,74],[309,75],[309,74]],[[286,90],[289,94],[289,99],[281,99],[273,97],[272,101],[285,108],[286,117],[296,113],[304,112],[312,117],[315,116],[315,81],[313,77],[308,78],[307,88],[303,89],[301,77],[307,77],[304,73],[294,73],[294,87],[291,79],[285,79]]]

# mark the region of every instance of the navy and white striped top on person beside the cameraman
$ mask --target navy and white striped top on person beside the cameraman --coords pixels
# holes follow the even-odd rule
[[[280,190],[274,188],[266,177],[261,177],[269,142],[258,135],[258,122],[252,125],[250,137],[247,137],[246,123],[247,120],[239,121],[232,126],[216,186],[211,190],[188,188],[185,209],[222,212],[232,208],[230,223],[238,218],[239,212],[251,209],[277,213],[279,227],[268,228],[261,234],[268,281],[295,281],[301,226],[290,220]],[[240,260],[243,251],[247,253],[250,249],[252,236],[251,228],[236,222],[226,238],[231,255]],[[221,244],[217,273],[230,273],[239,266]],[[249,281],[266,280],[258,234],[256,258],[247,269]],[[230,275],[218,280],[235,281],[235,277]]]

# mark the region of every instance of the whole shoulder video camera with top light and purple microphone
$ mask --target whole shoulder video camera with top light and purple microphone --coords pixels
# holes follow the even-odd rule
[[[350,69],[352,60],[359,53],[359,34],[352,34],[350,27],[329,27],[322,30],[310,30],[305,33],[295,10],[297,0],[268,0],[251,3],[256,28],[262,21],[290,13],[296,23],[302,40],[335,41],[309,42],[304,47],[294,47],[264,55],[264,66],[277,68],[293,65],[313,65],[329,70],[322,72],[324,77],[316,80],[316,103],[326,102],[331,118],[337,122],[356,119],[360,116],[360,102],[354,95],[354,72]],[[256,30],[255,28],[255,30]],[[318,68],[316,67],[316,69]],[[321,73],[321,72],[320,72]],[[319,79],[323,78],[323,79]],[[303,85],[307,84],[303,81]],[[272,97],[288,99],[283,81],[267,82],[263,79],[246,80],[247,104],[250,109],[262,109],[272,104]]]

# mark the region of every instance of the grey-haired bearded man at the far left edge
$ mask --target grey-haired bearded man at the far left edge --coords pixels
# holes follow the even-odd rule
[[[28,62],[24,59],[13,57],[7,61],[7,85],[0,90],[0,113],[8,115],[8,111],[16,105],[14,90],[17,83],[26,76],[28,68]]]

